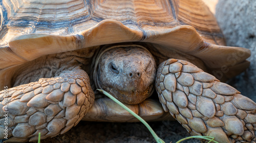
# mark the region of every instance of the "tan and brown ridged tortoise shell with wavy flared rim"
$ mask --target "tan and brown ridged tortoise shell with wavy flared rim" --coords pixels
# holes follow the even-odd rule
[[[0,2],[0,87],[15,66],[42,55],[96,45],[150,42],[201,59],[223,79],[245,70],[250,51],[227,47],[200,0]],[[223,71],[223,68],[228,70]],[[220,78],[221,78],[220,77]]]

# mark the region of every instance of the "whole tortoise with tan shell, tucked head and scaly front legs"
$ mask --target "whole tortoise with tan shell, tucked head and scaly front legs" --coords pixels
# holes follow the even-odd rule
[[[223,83],[250,51],[225,46],[200,0],[0,3],[1,139],[45,139],[80,120],[137,122],[103,89],[146,121],[255,142],[256,103]]]

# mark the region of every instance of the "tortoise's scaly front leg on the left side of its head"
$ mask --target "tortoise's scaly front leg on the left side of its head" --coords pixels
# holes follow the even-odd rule
[[[0,139],[5,138],[8,126],[7,141],[25,142],[37,140],[39,132],[45,139],[77,125],[92,106],[94,93],[87,73],[75,67],[58,77],[9,89],[8,94],[1,91],[0,101]]]

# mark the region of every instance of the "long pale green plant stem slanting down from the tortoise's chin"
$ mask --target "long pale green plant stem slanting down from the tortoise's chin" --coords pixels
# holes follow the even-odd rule
[[[148,130],[150,130],[151,134],[154,136],[155,140],[158,143],[165,143],[161,138],[159,138],[157,136],[157,134],[154,132],[154,130],[150,127],[150,125],[148,125],[146,123],[145,120],[143,120],[141,117],[139,117],[135,112],[133,112],[131,109],[129,109],[128,107],[126,107],[123,103],[121,103],[120,101],[118,101],[116,98],[114,98],[112,95],[110,95],[109,93],[103,91],[103,90],[98,90],[100,92],[102,92],[104,95],[108,96],[110,99],[112,99],[113,101],[115,101],[117,104],[119,104],[120,106],[122,106],[125,110],[129,111],[135,118],[137,118],[140,122],[142,122]]]

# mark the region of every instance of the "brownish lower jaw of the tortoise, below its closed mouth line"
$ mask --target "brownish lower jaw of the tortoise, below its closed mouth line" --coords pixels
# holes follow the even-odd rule
[[[110,88],[109,92],[119,101],[125,104],[139,104],[143,102],[146,98],[150,97],[154,90],[154,84],[149,85],[146,90],[144,91],[122,91],[122,90],[116,90],[116,88]]]

